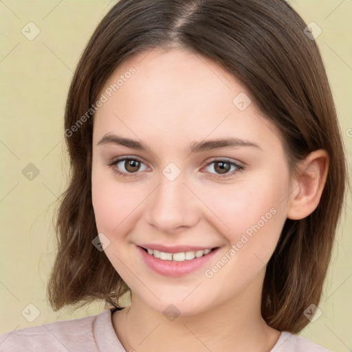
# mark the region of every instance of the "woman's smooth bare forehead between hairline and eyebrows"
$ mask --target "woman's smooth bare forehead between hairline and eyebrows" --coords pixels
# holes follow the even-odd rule
[[[268,142],[278,136],[234,76],[181,49],[148,50],[126,59],[100,94],[107,101],[94,116],[95,142],[107,132],[150,141],[157,137],[170,146],[173,140],[186,143],[210,134]]]

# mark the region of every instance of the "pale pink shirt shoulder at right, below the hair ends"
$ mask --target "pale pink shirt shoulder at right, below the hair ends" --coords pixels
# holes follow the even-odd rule
[[[329,349],[316,344],[303,336],[283,331],[270,352],[329,352]]]

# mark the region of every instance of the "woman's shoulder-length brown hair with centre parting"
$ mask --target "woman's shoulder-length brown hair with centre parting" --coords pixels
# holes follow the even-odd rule
[[[56,232],[58,253],[47,296],[55,311],[104,300],[118,306],[129,290],[97,236],[91,203],[93,118],[72,126],[94,104],[122,61],[153,47],[181,47],[212,59],[237,78],[281,131],[289,168],[325,149],[330,168],[318,208],[287,219],[267,264],[261,313],[270,327],[298,333],[318,305],[344,201],[347,166],[325,67],[306,24],[284,0],[120,0],[102,19],[80,58],[65,110],[71,163]]]

